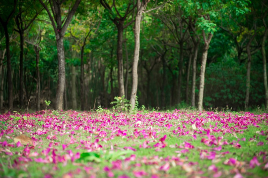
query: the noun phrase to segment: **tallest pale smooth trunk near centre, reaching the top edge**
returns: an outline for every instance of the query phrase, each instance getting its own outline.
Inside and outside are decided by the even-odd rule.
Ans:
[[[131,110],[135,107],[135,100],[137,94],[137,83],[138,83],[138,76],[137,76],[137,66],[138,66],[138,57],[139,57],[139,34],[140,34],[140,21],[142,12],[146,9],[148,0],[137,0],[137,14],[135,17],[135,24],[134,24],[134,39],[135,39],[135,47],[134,47],[134,59],[132,65],[132,89],[131,89]]]

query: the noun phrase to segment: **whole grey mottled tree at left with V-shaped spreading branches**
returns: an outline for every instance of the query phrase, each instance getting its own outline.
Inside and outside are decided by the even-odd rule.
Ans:
[[[67,27],[72,19],[72,16],[74,15],[81,0],[75,0],[74,3],[72,3],[73,1],[71,0],[67,1],[69,6],[71,6],[72,4],[73,5],[71,8],[68,8],[67,13],[65,14],[66,18],[62,18],[62,11],[64,9],[64,5],[67,2],[63,3],[64,1],[60,0],[47,0],[46,2],[44,2],[43,0],[39,1],[46,9],[49,15],[56,36],[57,50],[58,50],[58,69],[59,69],[58,87],[56,93],[56,109],[62,110],[64,89],[65,89],[65,54],[64,54],[63,39]],[[52,14],[48,8],[48,5],[51,8]]]

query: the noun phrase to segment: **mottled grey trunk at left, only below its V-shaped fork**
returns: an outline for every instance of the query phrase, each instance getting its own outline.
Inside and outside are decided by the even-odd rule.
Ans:
[[[59,78],[56,93],[56,109],[61,111],[63,109],[63,97],[65,88],[65,55],[63,37],[57,39],[58,50],[58,66],[59,66]]]

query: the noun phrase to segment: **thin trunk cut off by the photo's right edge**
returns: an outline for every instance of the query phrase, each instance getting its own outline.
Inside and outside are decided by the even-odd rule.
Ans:
[[[265,30],[262,41],[262,56],[263,56],[263,68],[264,68],[264,87],[265,87],[265,110],[268,111],[268,85],[267,85],[267,70],[266,70],[266,51],[265,51],[265,41],[267,38],[268,28]]]

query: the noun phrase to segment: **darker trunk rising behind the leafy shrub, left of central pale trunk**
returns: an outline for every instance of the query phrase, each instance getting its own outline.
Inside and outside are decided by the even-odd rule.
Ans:
[[[123,66],[123,22],[117,25],[118,36],[117,36],[117,61],[118,61],[118,85],[119,85],[119,96],[125,95],[124,89],[124,66]]]

